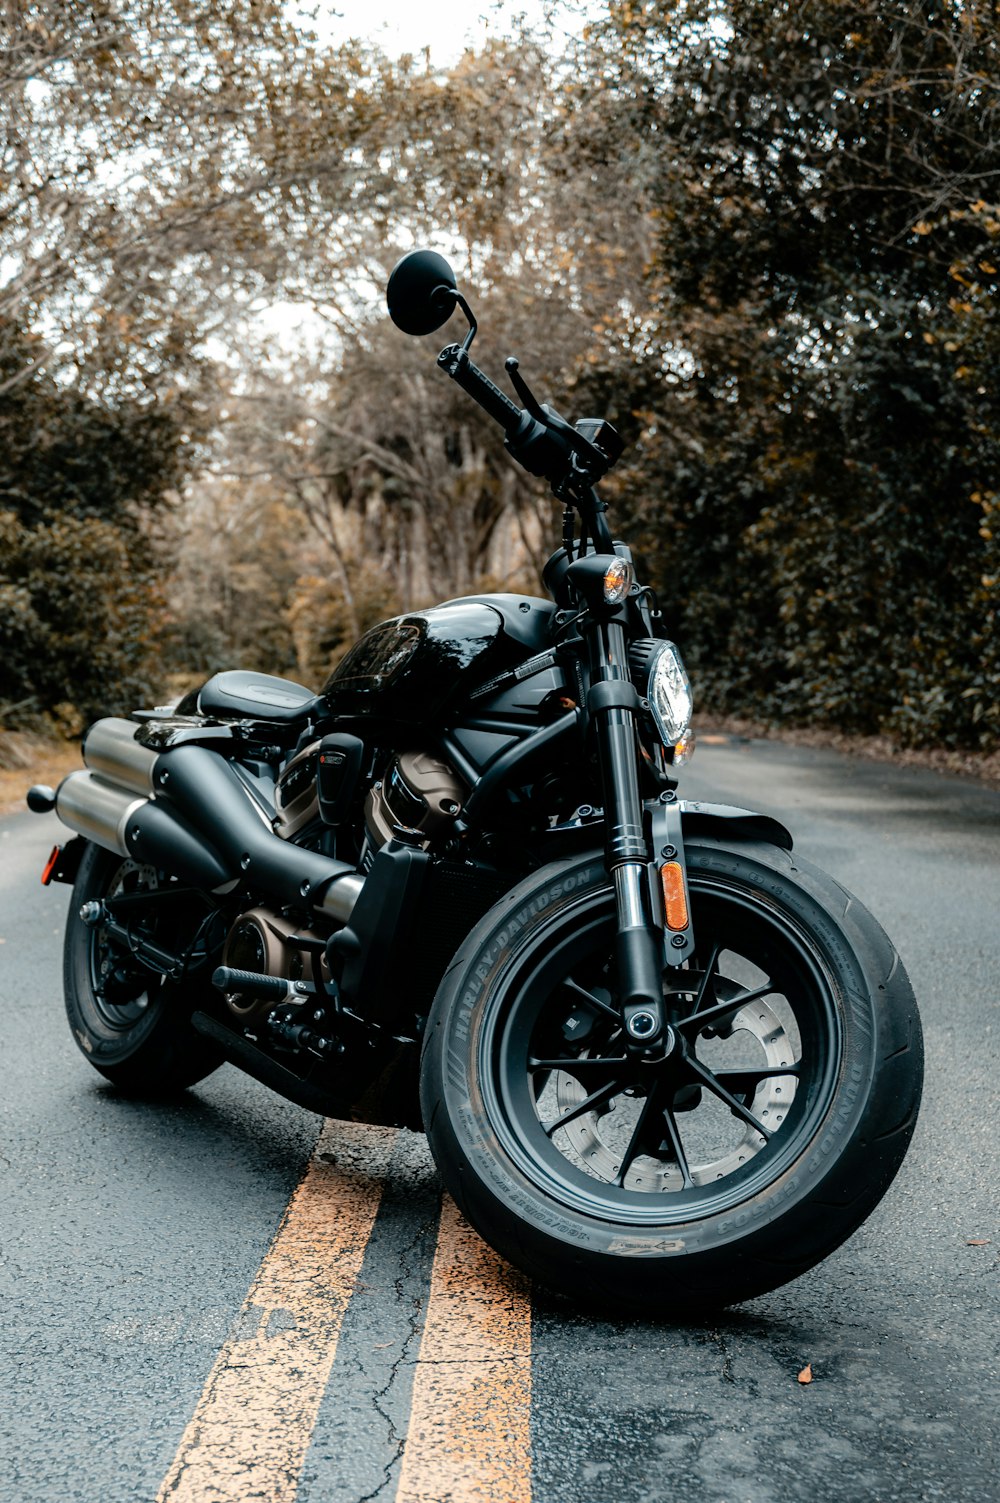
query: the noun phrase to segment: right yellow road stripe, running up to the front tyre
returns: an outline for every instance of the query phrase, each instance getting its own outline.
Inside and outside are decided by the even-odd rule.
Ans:
[[[531,1300],[445,1196],[395,1503],[480,1500],[531,1500]]]

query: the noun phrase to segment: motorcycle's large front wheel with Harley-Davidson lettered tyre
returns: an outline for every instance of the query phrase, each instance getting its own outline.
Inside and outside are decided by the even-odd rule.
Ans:
[[[624,1045],[600,855],[546,867],[469,935],[429,1019],[421,1103],[498,1252],[617,1311],[678,1315],[797,1278],[884,1195],[913,1135],[920,1022],[896,951],[776,846],[686,846],[696,953],[668,1048]]]

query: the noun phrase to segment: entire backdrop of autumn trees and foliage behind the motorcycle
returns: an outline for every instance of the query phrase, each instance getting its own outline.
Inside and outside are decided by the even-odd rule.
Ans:
[[[517,35],[444,71],[292,14],[6,18],[0,700],[96,705],[155,633],[171,669],[311,681],[394,595],[543,552],[555,508],[380,316],[420,237],[492,373],[621,424],[609,499],[702,703],[995,745],[995,8],[611,0],[561,63]],[[319,307],[322,355],[253,338],[262,298]],[[224,485],[165,517],[209,430]]]

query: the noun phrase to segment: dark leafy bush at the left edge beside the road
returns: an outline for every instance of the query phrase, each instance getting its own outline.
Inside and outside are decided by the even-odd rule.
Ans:
[[[18,358],[9,337],[6,353]],[[3,362],[0,361],[0,373]],[[0,395],[0,717],[131,708],[162,612],[143,514],[183,473],[165,404],[98,400],[41,370]]]

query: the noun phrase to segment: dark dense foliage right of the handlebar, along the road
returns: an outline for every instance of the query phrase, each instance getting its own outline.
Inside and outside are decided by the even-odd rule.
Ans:
[[[995,745],[992,9],[617,6],[606,41],[589,108],[645,147],[657,237],[585,385],[630,415],[623,502],[702,702]]]

